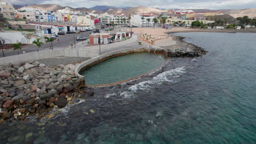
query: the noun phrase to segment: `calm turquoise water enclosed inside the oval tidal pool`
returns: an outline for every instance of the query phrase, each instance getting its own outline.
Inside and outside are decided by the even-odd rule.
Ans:
[[[86,85],[104,85],[146,74],[164,62],[162,55],[137,52],[107,59],[80,71],[80,74],[85,76]]]

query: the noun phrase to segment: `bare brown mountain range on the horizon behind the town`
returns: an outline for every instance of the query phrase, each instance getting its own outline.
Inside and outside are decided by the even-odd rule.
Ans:
[[[16,7],[15,7],[16,6]],[[15,9],[21,8],[21,5],[14,5]],[[31,4],[26,5],[24,7],[32,7],[36,9],[42,9],[42,10],[59,10],[59,9],[65,9],[66,7],[62,7],[58,4]],[[162,13],[166,12],[168,10],[179,10],[179,9],[158,9],[158,8],[149,8],[149,7],[113,7],[108,5],[97,5],[92,8],[72,8],[68,7],[73,11],[84,11],[87,13],[95,13],[95,14],[101,14],[101,13],[108,13],[108,14],[140,14],[140,13]],[[194,12],[206,12],[206,11],[224,11],[225,14],[229,14],[233,17],[243,17],[245,15],[249,17],[256,17],[256,8],[251,9],[190,9]]]

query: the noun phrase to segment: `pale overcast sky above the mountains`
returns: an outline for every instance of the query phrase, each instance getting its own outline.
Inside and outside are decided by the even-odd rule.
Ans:
[[[59,4],[73,8],[91,8],[95,5],[115,7],[145,6],[164,9],[248,9],[256,8],[256,0],[6,0],[11,4]]]

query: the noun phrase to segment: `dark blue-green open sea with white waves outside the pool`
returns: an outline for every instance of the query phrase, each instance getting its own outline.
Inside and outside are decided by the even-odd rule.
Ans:
[[[0,124],[0,143],[256,143],[256,33],[176,35],[208,53],[88,88],[54,118]]]

